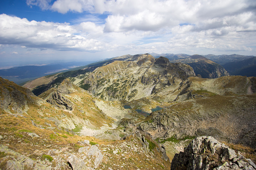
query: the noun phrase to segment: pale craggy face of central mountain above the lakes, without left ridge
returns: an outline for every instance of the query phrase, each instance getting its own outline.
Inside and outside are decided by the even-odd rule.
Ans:
[[[164,57],[154,59],[144,54],[97,68],[83,84],[90,85],[89,90],[102,99],[131,101],[177,86],[191,76],[195,73],[186,64],[173,64]]]

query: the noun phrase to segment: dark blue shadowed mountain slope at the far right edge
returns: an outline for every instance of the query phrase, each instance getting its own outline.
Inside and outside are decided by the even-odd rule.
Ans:
[[[231,75],[241,75],[247,77],[256,76],[256,57],[242,61],[226,63],[223,65],[223,67]]]

